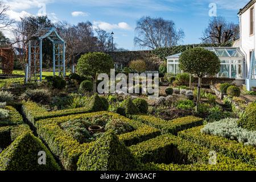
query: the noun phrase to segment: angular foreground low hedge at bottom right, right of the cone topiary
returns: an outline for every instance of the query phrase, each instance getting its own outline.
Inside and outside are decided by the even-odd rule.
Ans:
[[[176,163],[176,167],[181,170],[183,166],[197,166],[204,168],[209,166],[208,148],[199,146],[198,144],[188,142],[180,137],[171,134],[161,135],[159,137],[144,141],[134,146],[129,147],[131,152],[143,163]],[[178,166],[177,164],[182,164]],[[187,164],[187,165],[186,165]],[[162,164],[168,169],[174,164]],[[241,160],[232,159],[222,154],[217,153],[217,166],[213,169],[220,170],[255,170],[254,166],[243,163]],[[177,169],[179,169],[177,168]],[[210,167],[209,167],[210,168]],[[161,169],[161,168],[160,168]],[[164,169],[162,167],[162,169]],[[171,169],[171,168],[170,168]],[[169,170],[170,170],[169,169]]]

